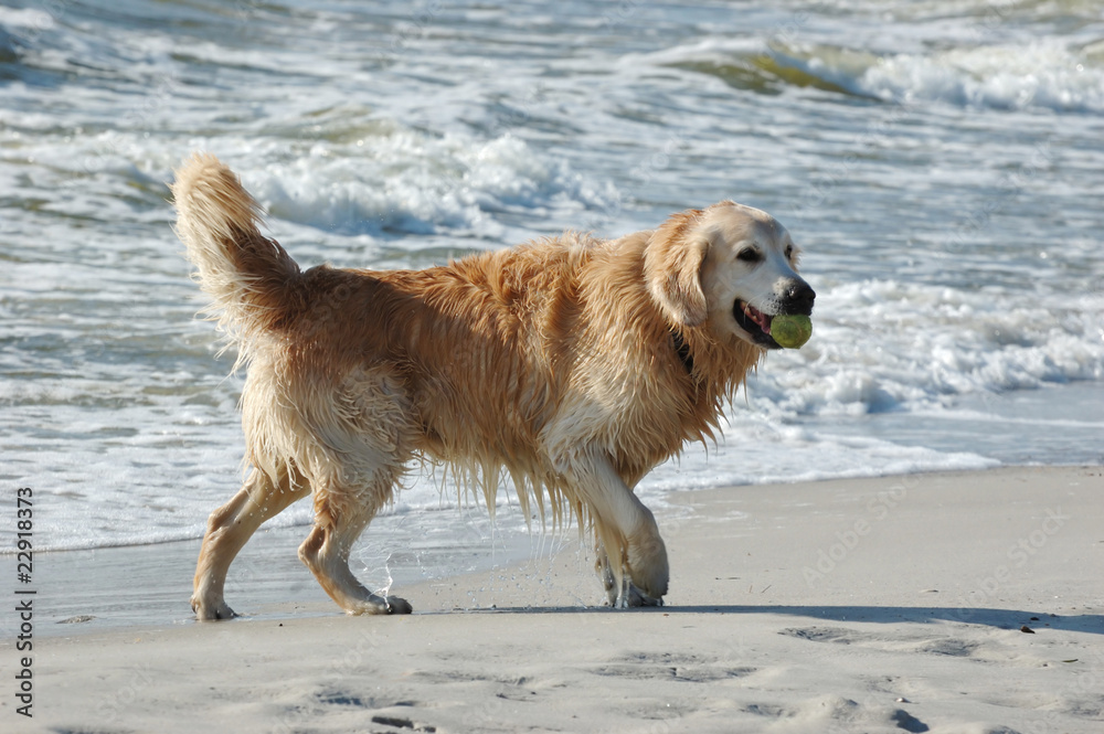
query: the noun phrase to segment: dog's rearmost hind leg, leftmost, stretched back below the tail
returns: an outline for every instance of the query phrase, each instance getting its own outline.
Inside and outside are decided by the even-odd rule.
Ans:
[[[267,474],[254,468],[237,494],[208,519],[192,592],[192,609],[197,619],[230,619],[236,616],[223,598],[230,564],[257,528],[310,493],[301,477],[297,477],[298,481],[293,485],[287,472],[282,470],[277,479],[274,482]]]

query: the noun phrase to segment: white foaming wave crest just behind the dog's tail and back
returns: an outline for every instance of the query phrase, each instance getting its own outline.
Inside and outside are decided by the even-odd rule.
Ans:
[[[433,136],[400,126],[243,163],[273,216],[337,234],[471,234],[500,238],[511,215],[611,209],[618,194],[524,141]]]

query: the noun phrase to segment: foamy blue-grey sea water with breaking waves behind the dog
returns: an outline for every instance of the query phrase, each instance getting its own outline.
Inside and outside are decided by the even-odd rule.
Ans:
[[[166,185],[195,150],[305,267],[775,214],[814,337],[649,503],[1104,460],[1096,2],[6,3],[0,486],[33,488],[40,549],[195,539],[240,485],[242,375],[194,316]],[[380,577],[395,547],[524,528],[509,491],[492,531],[439,474],[405,486],[359,555]]]

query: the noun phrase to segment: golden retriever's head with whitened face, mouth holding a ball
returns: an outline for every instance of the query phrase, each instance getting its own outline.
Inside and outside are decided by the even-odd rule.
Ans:
[[[675,323],[709,323],[765,349],[778,349],[771,320],[809,316],[816,294],[797,275],[798,249],[777,220],[731,201],[676,214],[645,253],[648,289]]]

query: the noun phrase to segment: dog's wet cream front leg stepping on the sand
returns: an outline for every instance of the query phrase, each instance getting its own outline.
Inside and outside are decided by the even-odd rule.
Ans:
[[[667,594],[667,547],[651,510],[604,454],[578,457],[566,472],[594,522],[597,570],[615,607],[656,606]]]

